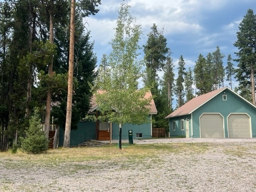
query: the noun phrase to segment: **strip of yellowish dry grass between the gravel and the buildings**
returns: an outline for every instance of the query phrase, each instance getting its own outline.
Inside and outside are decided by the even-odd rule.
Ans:
[[[77,148],[58,148],[56,150],[48,150],[42,154],[25,154],[18,150],[16,154],[10,151],[0,153],[0,164],[5,168],[22,168],[26,166],[58,166],[62,163],[80,163],[97,160],[128,160],[130,162],[138,162],[144,159],[157,159],[159,154],[196,154],[205,153],[210,149],[218,150],[224,144],[210,143],[172,143],[172,144],[147,144],[147,145],[130,145],[123,146],[122,150],[117,146],[106,144],[98,148],[77,147]],[[250,155],[252,148],[246,148],[240,145],[227,145],[223,151],[231,156]]]

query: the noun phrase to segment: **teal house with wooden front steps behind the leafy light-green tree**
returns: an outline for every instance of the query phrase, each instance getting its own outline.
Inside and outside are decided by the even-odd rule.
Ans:
[[[147,92],[145,98],[152,98],[151,92]],[[98,116],[100,112],[97,110],[98,105],[95,102],[95,97],[91,99],[91,108],[88,114]],[[128,131],[132,130],[133,139],[141,138],[152,138],[152,115],[157,114],[156,105],[152,99],[150,106],[148,106],[150,112],[148,114],[149,121],[147,123],[137,125],[137,124],[124,124],[122,126],[122,139],[128,139]],[[119,125],[109,122],[101,122],[97,120],[96,122],[81,121],[78,123],[78,128],[76,130],[71,130],[70,132],[70,146],[77,146],[82,144],[84,141],[88,140],[118,140],[119,138]],[[64,130],[60,129],[59,143],[63,144],[64,141]]]

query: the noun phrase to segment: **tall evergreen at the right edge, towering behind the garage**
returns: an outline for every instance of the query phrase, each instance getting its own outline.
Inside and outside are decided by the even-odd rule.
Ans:
[[[238,28],[237,40],[234,43],[234,46],[238,48],[238,52],[235,52],[238,57],[235,60],[238,62],[236,70],[238,89],[241,91],[240,95],[246,98],[248,91],[243,90],[249,88],[252,104],[255,105],[256,15],[252,9],[247,10]]]

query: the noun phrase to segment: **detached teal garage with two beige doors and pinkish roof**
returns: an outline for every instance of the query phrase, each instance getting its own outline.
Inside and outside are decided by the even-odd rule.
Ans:
[[[256,106],[228,87],[197,96],[166,118],[171,136],[256,138]]]

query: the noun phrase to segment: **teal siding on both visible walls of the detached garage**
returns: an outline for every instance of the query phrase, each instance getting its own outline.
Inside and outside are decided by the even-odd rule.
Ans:
[[[227,100],[223,100],[223,95],[227,96]],[[179,122],[181,119],[188,118],[190,120],[190,137],[200,138],[200,116],[204,113],[219,113],[224,117],[225,138],[228,138],[228,116],[232,113],[246,113],[251,117],[252,137],[256,138],[256,108],[228,89],[192,112],[191,117],[187,115],[170,118],[170,135],[186,135],[186,132],[180,130]],[[172,131],[172,121],[175,121],[178,127],[175,131]]]

